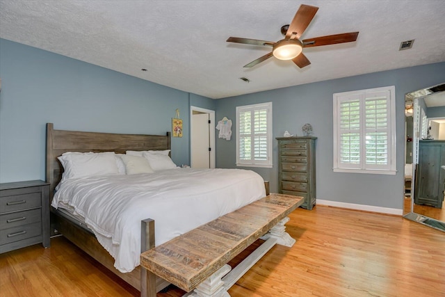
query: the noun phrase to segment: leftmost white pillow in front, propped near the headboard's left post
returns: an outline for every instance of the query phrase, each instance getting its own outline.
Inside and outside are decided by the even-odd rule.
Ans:
[[[113,175],[119,172],[114,152],[65,152],[58,159],[64,169],[62,179]]]

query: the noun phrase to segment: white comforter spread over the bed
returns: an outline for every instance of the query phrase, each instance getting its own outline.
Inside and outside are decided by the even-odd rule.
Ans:
[[[250,170],[176,168],[68,179],[51,205],[82,216],[125,273],[139,265],[141,220],[154,219],[157,246],[264,195]]]

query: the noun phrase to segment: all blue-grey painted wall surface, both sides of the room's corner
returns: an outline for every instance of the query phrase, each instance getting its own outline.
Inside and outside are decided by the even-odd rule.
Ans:
[[[184,136],[172,138],[172,159],[180,165],[190,162],[191,105],[215,110],[216,119],[234,120],[236,106],[271,101],[274,138],[285,130],[302,135],[306,122],[314,127],[318,199],[402,209],[405,93],[443,83],[445,63],[212,100],[0,39],[0,78],[0,182],[44,179],[47,122],[55,129],[164,134],[179,109]],[[332,172],[332,94],[393,85],[397,175]],[[235,136],[216,139],[217,167],[236,167],[235,143]],[[276,141],[273,164],[271,169],[252,169],[277,191]]]

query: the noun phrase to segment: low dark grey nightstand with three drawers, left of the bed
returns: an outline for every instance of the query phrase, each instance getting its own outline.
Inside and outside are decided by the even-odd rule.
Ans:
[[[49,184],[0,184],[0,253],[35,243],[49,247]]]

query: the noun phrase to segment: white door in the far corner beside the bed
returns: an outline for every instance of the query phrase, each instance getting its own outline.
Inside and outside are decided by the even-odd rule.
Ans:
[[[193,114],[192,126],[192,168],[210,168],[209,113]]]

